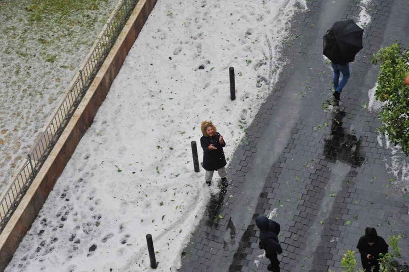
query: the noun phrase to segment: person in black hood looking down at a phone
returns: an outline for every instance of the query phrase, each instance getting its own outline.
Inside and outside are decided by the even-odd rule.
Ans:
[[[361,253],[362,268],[365,272],[379,271],[379,254],[387,254],[389,245],[384,238],[378,236],[376,229],[367,227],[365,235],[362,236],[357,245],[357,249]]]

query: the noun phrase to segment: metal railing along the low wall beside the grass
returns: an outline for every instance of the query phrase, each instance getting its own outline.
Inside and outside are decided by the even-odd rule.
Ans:
[[[117,9],[101,31],[100,38],[95,41],[89,58],[76,74],[76,79],[73,80],[44,132],[27,154],[27,160],[22,164],[22,168],[11,181],[0,201],[0,233],[74,114],[137,2],[138,0],[121,0],[117,4]]]

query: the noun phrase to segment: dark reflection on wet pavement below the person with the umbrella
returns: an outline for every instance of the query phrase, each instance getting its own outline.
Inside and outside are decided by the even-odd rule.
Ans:
[[[331,138],[324,140],[324,155],[329,162],[336,160],[361,166],[365,160],[361,151],[362,137],[357,139],[355,135],[347,134],[342,127],[342,119],[345,112],[337,110],[331,125]]]

